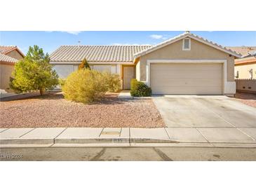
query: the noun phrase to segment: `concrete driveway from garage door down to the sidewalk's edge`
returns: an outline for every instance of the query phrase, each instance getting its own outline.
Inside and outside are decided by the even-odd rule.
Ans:
[[[169,128],[256,128],[256,108],[226,96],[153,97]]]

